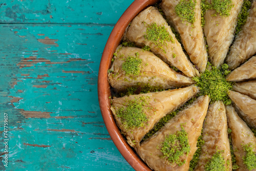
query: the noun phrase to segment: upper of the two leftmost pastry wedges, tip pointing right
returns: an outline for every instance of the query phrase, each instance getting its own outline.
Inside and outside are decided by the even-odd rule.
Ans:
[[[114,59],[109,81],[118,91],[138,84],[141,87],[148,84],[151,87],[171,89],[194,83],[192,79],[170,69],[152,52],[140,48],[118,47]]]

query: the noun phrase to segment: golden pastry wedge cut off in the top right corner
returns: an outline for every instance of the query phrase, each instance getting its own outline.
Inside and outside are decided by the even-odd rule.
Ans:
[[[236,69],[256,53],[256,0],[252,1],[249,16],[242,30],[238,33],[227,56],[229,69]]]

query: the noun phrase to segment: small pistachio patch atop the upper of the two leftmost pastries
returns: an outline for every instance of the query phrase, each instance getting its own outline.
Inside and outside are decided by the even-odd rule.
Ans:
[[[122,63],[122,70],[126,75],[139,75],[141,71],[142,59],[139,58],[139,54],[134,56],[128,56]]]

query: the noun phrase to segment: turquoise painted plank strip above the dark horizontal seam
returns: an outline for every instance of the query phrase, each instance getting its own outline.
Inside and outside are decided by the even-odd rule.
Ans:
[[[1,23],[115,24],[133,1],[66,0],[1,1]]]

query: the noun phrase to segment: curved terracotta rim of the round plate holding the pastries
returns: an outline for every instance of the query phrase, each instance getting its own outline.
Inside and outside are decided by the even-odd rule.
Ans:
[[[121,38],[126,27],[132,22],[133,18],[139,12],[158,2],[159,0],[136,0],[129,8],[122,14],[116,23],[113,31],[110,34],[106,46],[104,48],[98,76],[98,98],[100,111],[106,125],[106,129],[118,148],[122,156],[135,170],[151,170],[133,151],[132,147],[125,141],[116,124],[115,118],[110,110],[110,85],[108,82],[108,70],[110,69],[111,59],[117,46],[120,44]]]

